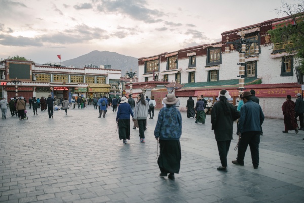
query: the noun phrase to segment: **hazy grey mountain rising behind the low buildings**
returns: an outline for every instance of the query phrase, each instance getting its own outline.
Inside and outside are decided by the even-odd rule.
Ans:
[[[125,74],[126,70],[130,72],[131,68],[132,72],[138,72],[138,58],[108,51],[101,52],[95,50],[74,59],[61,61],[61,63],[66,66],[72,65],[77,68],[83,68],[88,64],[93,64],[99,67],[100,65],[111,65],[111,69],[122,70],[122,76]]]

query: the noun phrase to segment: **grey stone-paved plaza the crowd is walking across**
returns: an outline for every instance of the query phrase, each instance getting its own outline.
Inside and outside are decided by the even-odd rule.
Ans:
[[[220,166],[210,116],[195,124],[182,112],[181,170],[172,181],[159,177],[153,132],[159,110],[148,119],[146,143],[131,129],[124,145],[116,131],[116,113],[98,118],[93,106],[47,112],[19,121],[0,120],[0,202],[304,202],[304,132],[282,133],[284,121],[266,119],[260,165]],[[236,123],[234,132],[236,132]]]

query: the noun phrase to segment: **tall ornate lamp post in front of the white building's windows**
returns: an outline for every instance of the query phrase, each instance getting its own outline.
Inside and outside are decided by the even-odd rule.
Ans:
[[[248,49],[251,47],[252,43],[257,43],[258,41],[256,40],[246,40],[245,39],[245,33],[243,31],[240,32],[240,36],[241,38],[238,40],[235,40],[233,42],[229,42],[228,39],[229,37],[227,37],[227,45],[228,44],[232,44],[233,47],[239,52],[239,95],[241,95],[245,89],[245,53],[246,51],[248,51]],[[225,53],[229,54],[229,46],[226,47],[225,49]],[[258,54],[259,53],[259,46],[255,46],[255,53]]]

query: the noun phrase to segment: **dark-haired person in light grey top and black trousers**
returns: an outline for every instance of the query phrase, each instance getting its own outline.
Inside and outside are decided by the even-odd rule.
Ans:
[[[147,117],[148,117],[149,103],[144,99],[144,95],[139,95],[138,103],[134,110],[134,119],[133,121],[138,121],[139,137],[140,142],[145,143],[144,131],[146,129]]]

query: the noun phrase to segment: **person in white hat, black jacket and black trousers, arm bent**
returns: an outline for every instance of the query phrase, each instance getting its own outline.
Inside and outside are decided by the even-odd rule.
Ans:
[[[213,106],[211,112],[211,130],[214,130],[221,161],[221,166],[217,170],[227,171],[227,155],[232,140],[233,121],[238,119],[241,114],[227,101],[231,98],[227,90],[221,90],[218,98],[219,102]]]

